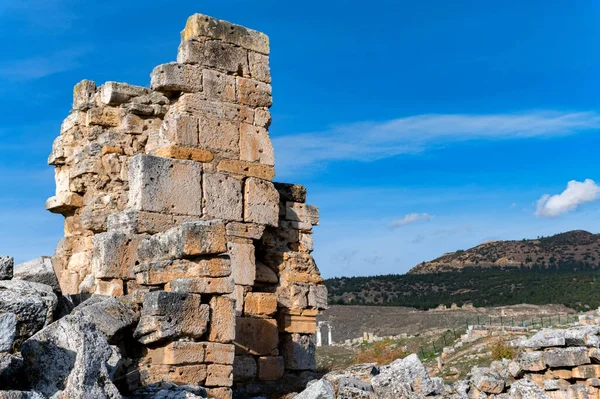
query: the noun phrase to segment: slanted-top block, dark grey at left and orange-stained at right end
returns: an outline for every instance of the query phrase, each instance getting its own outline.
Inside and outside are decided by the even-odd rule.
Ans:
[[[225,226],[218,220],[183,223],[143,240],[141,261],[171,260],[226,252]]]

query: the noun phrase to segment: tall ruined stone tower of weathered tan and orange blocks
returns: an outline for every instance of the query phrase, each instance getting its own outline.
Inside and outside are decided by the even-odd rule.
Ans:
[[[150,88],[75,86],[49,158],[46,208],[65,218],[52,263],[63,294],[136,309],[129,390],[250,397],[316,368],[318,209],[304,187],[272,182],[270,83],[266,35],[196,14]]]

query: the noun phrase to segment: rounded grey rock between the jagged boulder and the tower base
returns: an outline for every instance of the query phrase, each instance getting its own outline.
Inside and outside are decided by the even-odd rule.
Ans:
[[[98,331],[111,344],[117,344],[138,322],[135,312],[117,298],[99,295],[78,305],[72,314],[81,314],[93,320]]]

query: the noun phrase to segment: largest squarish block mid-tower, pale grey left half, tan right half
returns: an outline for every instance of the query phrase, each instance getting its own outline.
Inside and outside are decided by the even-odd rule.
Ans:
[[[202,166],[193,161],[138,154],[129,165],[129,208],[202,215]]]

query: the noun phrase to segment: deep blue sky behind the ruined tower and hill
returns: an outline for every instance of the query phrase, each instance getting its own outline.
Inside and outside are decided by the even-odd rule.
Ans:
[[[75,83],[148,85],[195,12],[271,38],[276,180],[320,207],[326,277],[600,232],[597,2],[3,0],[0,253],[62,236],[46,159]]]

